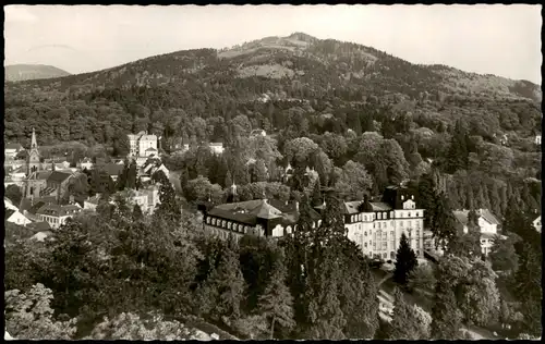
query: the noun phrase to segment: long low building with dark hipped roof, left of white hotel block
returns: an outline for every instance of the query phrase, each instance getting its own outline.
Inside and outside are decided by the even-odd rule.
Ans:
[[[312,212],[315,225],[319,225],[319,213]],[[213,235],[227,238],[229,234],[239,239],[246,233],[257,236],[280,237],[291,234],[299,219],[299,204],[276,199],[255,199],[219,205],[204,214],[204,228]]]

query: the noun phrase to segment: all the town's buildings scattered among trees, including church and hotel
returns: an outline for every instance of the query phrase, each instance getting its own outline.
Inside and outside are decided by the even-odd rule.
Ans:
[[[256,130],[252,135],[266,136],[265,131]],[[80,176],[90,175],[89,171],[99,169],[99,183],[108,185],[116,183],[123,173],[126,161],[135,163],[138,187],[118,191],[116,195],[125,198],[131,205],[138,205],[145,214],[153,214],[160,202],[158,185],[152,181],[157,172],[162,172],[168,179],[170,172],[162,163],[158,153],[158,137],[141,132],[128,135],[130,153],[126,159],[112,160],[108,163],[93,163],[89,158],[82,159],[76,167],[62,159],[41,159],[38,138],[33,130],[31,147],[25,149],[19,144],[7,144],[4,149],[4,186],[16,185],[22,191],[20,204],[4,197],[5,221],[27,228],[36,232],[37,239],[44,239],[52,231],[65,223],[66,219],[82,211],[96,211],[100,194],[75,200],[73,195],[64,197],[70,185]],[[180,145],[181,146],[181,145]],[[189,145],[181,147],[182,151]],[[222,144],[210,144],[213,153],[221,155]],[[26,152],[26,159],[17,159]],[[286,176],[292,173],[291,167],[286,169]],[[90,180],[90,177],[89,177]],[[89,181],[90,183],[90,181]],[[282,202],[277,199],[256,199],[235,201],[237,185],[231,186],[231,202],[210,207],[202,204],[203,228],[208,232],[227,238],[230,234],[237,238],[252,233],[257,236],[280,237],[291,234],[296,226],[298,202]],[[356,243],[363,255],[378,259],[387,265],[396,260],[396,250],[400,237],[405,233],[411,247],[419,259],[436,260],[443,250],[434,242],[432,232],[424,228],[423,219],[426,209],[417,207],[414,195],[408,194],[402,186],[388,187],[377,201],[367,198],[359,201],[344,202],[344,224],[348,237]],[[315,225],[320,223],[320,211],[325,204],[313,210]],[[468,214],[470,210],[453,210],[458,225],[468,233]],[[477,209],[481,231],[481,249],[485,257],[489,254],[494,238],[499,234],[501,222],[489,209]],[[541,233],[541,216],[533,225]],[[504,237],[505,236],[501,236]]]

